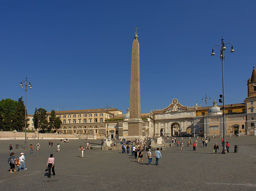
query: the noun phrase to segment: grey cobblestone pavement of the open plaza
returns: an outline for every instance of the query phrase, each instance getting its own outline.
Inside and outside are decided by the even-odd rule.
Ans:
[[[196,138],[193,138],[195,141]],[[256,189],[256,137],[227,137],[230,143],[229,154],[221,154],[221,138],[210,138],[208,147],[203,147],[201,138],[196,151],[184,142],[184,150],[177,146],[163,150],[159,165],[147,165],[146,152],[143,163],[130,154],[121,154],[121,150],[86,150],[80,158],[79,146],[85,146],[86,140],[72,139],[68,143],[52,140],[40,140],[40,151],[36,151],[36,140],[28,140],[34,145],[34,154],[15,144],[24,146],[24,140],[1,141],[1,190],[255,190]],[[90,141],[90,140],[89,140]],[[167,139],[171,142],[171,139]],[[60,152],[56,145],[60,143]],[[218,143],[220,150],[213,154],[213,146]],[[26,171],[10,173],[7,163],[9,144],[14,146],[15,157],[20,152],[26,156]],[[100,145],[93,140],[92,145]],[[234,153],[234,145],[238,152]],[[154,152],[154,151],[153,151]],[[56,176],[47,178],[47,158],[55,158]]]

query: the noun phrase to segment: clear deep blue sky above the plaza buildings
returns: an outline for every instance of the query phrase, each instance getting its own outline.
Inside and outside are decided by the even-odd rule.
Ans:
[[[256,63],[255,1],[1,1],[0,99],[23,96],[27,110],[129,106],[131,48],[138,26],[141,111],[167,107],[176,98],[200,105],[222,93],[243,103]],[[208,102],[208,105],[212,103]]]

